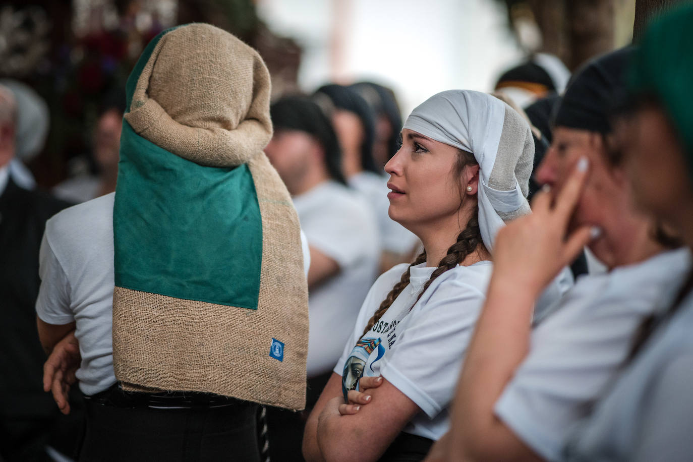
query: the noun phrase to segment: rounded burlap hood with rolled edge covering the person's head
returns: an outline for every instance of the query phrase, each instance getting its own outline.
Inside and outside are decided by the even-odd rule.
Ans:
[[[138,64],[125,120],[144,139],[211,167],[247,163],[270,141],[270,74],[240,39],[188,24],[162,35]]]

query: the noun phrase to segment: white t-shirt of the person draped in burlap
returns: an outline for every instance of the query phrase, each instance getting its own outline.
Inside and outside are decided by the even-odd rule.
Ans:
[[[110,193],[66,208],[46,222],[36,301],[38,317],[49,324],[75,321],[82,364],[77,371],[86,395],[116,382],[113,371],[113,202]],[[304,267],[308,242],[301,233]]]

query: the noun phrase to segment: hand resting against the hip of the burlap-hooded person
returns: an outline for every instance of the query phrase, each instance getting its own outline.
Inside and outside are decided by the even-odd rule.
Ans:
[[[75,373],[80,362],[80,345],[73,330],[55,344],[44,364],[44,391],[53,392],[53,399],[62,414],[70,414],[68,395],[70,386],[77,381]]]

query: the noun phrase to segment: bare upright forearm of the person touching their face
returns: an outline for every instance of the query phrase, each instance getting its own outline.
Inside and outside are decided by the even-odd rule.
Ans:
[[[493,407],[527,355],[535,299],[534,291],[509,278],[492,279],[453,405],[451,459],[516,460],[524,454]]]

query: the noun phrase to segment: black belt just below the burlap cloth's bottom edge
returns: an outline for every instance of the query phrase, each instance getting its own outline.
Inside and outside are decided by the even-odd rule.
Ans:
[[[85,395],[89,403],[108,407],[152,409],[211,409],[229,406],[252,406],[253,403],[228,396],[199,391],[162,391],[160,393],[141,393],[125,391],[119,383],[94,395]]]

